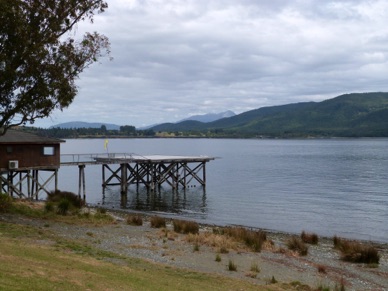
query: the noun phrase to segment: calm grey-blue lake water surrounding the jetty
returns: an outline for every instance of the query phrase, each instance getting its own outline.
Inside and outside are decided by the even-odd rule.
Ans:
[[[61,152],[102,153],[104,140],[77,139]],[[111,139],[111,153],[208,155],[207,187],[156,194],[131,186],[102,193],[101,166],[86,167],[91,204],[214,224],[388,242],[388,139]],[[59,188],[78,192],[78,168],[62,167]]]

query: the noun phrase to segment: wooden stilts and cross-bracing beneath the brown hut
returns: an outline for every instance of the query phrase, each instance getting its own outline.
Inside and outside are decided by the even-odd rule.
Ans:
[[[39,171],[51,173],[41,182],[39,181]],[[53,179],[56,190],[58,188],[58,169],[9,170],[0,173],[0,190],[12,197],[38,200],[41,191],[50,192],[47,186]]]

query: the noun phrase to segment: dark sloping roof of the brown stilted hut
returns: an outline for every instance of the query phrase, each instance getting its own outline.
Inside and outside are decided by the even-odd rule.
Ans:
[[[38,136],[22,130],[8,130],[0,136],[0,144],[57,144],[65,142],[62,139]]]

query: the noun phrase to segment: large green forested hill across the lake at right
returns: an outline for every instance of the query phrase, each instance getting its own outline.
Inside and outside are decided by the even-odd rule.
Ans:
[[[388,93],[345,94],[322,102],[263,107],[209,123],[165,123],[152,130],[229,137],[388,137]]]

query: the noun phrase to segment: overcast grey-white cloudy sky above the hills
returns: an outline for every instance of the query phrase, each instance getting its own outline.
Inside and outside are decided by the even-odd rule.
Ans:
[[[68,121],[145,125],[388,91],[388,1],[108,0],[77,32],[109,37]]]

